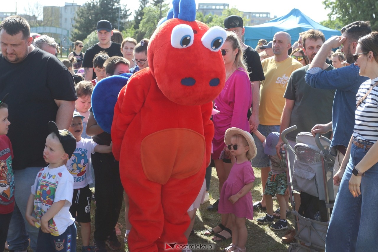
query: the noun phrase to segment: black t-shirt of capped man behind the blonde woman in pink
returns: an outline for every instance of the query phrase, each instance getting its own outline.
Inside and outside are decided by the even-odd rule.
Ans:
[[[259,53],[257,53],[256,50],[254,50],[252,47],[248,46],[244,52],[244,61],[247,64],[248,72],[251,72],[249,74],[249,80],[250,81],[263,81],[265,79],[264,71],[262,70],[261,61]],[[253,100],[252,105],[253,106]],[[251,110],[248,109],[247,111],[247,117],[251,117],[252,113]]]

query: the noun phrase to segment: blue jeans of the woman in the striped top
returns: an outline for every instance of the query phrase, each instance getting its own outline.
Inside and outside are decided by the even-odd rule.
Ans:
[[[342,177],[328,226],[325,243],[327,252],[377,250],[375,238],[378,237],[378,219],[374,213],[378,209],[378,163],[362,177],[360,196],[353,198],[349,191],[353,167],[366,153],[367,149],[352,144],[349,163]]]

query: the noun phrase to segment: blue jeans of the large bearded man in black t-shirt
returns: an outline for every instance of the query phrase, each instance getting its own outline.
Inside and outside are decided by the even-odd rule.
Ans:
[[[30,247],[36,251],[38,229],[25,219],[26,205],[31,193],[31,186],[37,177],[37,173],[41,167],[29,167],[23,170],[13,170],[14,173],[14,198],[15,207],[9,224],[8,236],[6,241],[10,250],[23,251],[29,246],[28,238],[30,238]]]

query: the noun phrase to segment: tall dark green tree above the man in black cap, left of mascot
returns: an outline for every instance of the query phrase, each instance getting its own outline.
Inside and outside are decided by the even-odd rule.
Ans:
[[[121,5],[120,0],[89,0],[77,10],[72,41],[84,40],[88,33],[96,30],[99,20],[105,19],[112,23],[113,28],[123,30],[124,22],[130,16],[129,9]]]

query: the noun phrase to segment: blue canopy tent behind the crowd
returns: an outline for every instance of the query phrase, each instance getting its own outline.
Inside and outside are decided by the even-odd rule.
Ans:
[[[289,14],[277,17],[261,25],[245,26],[245,44],[255,48],[259,39],[273,40],[278,31],[285,31],[291,36],[291,44],[298,40],[299,33],[308,29],[321,30],[328,39],[335,35],[341,35],[340,31],[327,28],[307,17],[299,9],[292,9]]]

